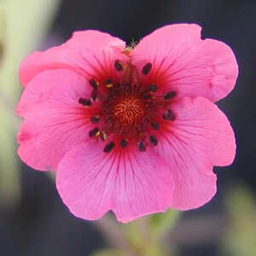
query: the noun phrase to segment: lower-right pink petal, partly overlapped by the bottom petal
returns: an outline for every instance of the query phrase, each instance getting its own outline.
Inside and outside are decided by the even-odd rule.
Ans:
[[[168,162],[175,188],[172,208],[187,210],[204,205],[216,193],[212,166],[227,166],[236,154],[230,122],[205,98],[173,103],[176,119],[159,137],[158,153]]]

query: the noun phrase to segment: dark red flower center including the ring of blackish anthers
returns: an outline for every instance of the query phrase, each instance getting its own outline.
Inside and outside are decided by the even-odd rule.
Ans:
[[[93,102],[97,106],[97,113],[90,118],[96,127],[89,131],[89,137],[100,137],[106,142],[103,150],[106,153],[118,145],[126,148],[130,143],[137,143],[140,151],[145,151],[148,144],[156,146],[160,120],[175,119],[168,106],[176,92],[167,91],[159,96],[157,84],[140,84],[136,67],[129,63],[122,66],[119,61],[115,61],[113,67],[122,73],[119,81],[113,83],[107,79],[102,83],[90,79],[91,99],[79,98],[79,103],[88,108],[93,108]],[[146,76],[151,69],[152,64],[147,63],[141,72]]]

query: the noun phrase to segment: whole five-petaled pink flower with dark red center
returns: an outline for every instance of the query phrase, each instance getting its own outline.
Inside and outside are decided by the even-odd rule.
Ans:
[[[201,207],[216,193],[212,166],[236,154],[234,133],[214,102],[238,68],[201,27],[164,26],[134,49],[97,31],[35,52],[20,66],[18,154],[57,170],[56,187],[79,218],[112,210],[119,221]]]

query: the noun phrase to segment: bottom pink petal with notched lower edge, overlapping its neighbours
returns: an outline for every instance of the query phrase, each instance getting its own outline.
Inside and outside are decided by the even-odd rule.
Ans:
[[[121,222],[164,212],[173,183],[164,160],[152,149],[132,146],[103,153],[102,142],[88,141],[61,160],[56,186],[69,210],[79,218],[101,218],[113,210]]]

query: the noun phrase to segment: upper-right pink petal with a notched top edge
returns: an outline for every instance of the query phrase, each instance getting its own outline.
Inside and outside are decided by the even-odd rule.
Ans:
[[[140,71],[148,62],[148,75]],[[176,24],[157,29],[132,51],[144,84],[158,84],[160,91],[177,96],[204,96],[212,102],[226,96],[236,84],[238,67],[230,47],[213,39],[201,39],[201,27]]]

